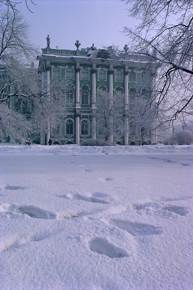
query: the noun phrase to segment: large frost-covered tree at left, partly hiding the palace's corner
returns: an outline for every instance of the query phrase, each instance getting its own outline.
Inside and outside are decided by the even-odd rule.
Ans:
[[[41,71],[33,60],[39,54],[31,44],[30,25],[17,11],[0,14],[0,140],[27,142],[48,124],[57,126],[58,115],[69,106],[64,95],[68,82],[53,79],[42,86]],[[48,119],[49,122],[47,121]],[[22,125],[23,124],[23,125]],[[45,124],[47,124],[45,126]],[[46,130],[46,129],[45,129]]]

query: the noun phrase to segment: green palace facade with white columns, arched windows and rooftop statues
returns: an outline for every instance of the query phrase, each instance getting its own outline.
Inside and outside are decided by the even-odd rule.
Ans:
[[[99,130],[97,114],[97,91],[106,90],[114,95],[119,90],[124,95],[124,109],[114,111],[119,122],[123,123],[124,133],[109,136],[110,141],[119,145],[140,145],[142,143],[140,128],[132,122],[133,111],[129,101],[137,91],[145,89],[142,70],[150,61],[143,55],[129,55],[129,58],[118,60],[111,47],[96,49],[94,44],[79,49],[76,41],[75,50],[50,48],[50,38],[47,37],[47,47],[42,48],[42,56],[38,57],[39,65],[44,68],[42,80],[47,88],[51,79],[57,78],[71,81],[71,88],[66,91],[73,106],[66,108],[60,125],[56,130],[50,127],[47,140],[52,144],[80,144],[84,139],[96,139],[104,136]],[[127,47],[126,47],[127,49]],[[155,77],[150,86],[155,87]],[[42,88],[45,86],[42,81]],[[113,121],[112,121],[113,122]],[[157,142],[156,131],[151,128],[146,134],[144,144]],[[40,133],[40,144],[45,144],[45,135]]]

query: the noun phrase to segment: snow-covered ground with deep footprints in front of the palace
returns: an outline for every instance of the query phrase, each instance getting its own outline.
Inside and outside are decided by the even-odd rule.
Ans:
[[[0,144],[0,289],[192,290],[192,151]]]

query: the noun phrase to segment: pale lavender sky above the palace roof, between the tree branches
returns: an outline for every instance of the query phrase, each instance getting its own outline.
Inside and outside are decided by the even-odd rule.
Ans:
[[[137,24],[127,16],[125,2],[119,0],[28,0],[17,4],[17,9],[31,23],[31,39],[34,44],[44,48],[46,37],[50,36],[50,47],[75,50],[79,40],[81,48],[94,46],[101,48],[115,44],[122,49],[127,37],[121,32],[123,26]]]

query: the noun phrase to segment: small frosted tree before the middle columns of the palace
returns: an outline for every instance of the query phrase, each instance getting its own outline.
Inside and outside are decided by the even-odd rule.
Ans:
[[[105,141],[112,141],[114,137],[124,134],[122,116],[124,109],[124,95],[116,91],[112,96],[107,90],[100,88],[97,90],[97,127],[98,135],[104,136]]]

